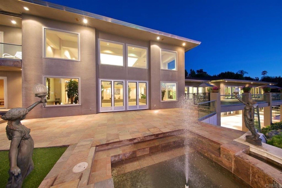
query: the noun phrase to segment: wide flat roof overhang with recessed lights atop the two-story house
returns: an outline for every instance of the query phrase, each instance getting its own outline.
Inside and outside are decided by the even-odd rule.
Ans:
[[[185,52],[201,44],[201,42],[199,41],[185,37],[180,37],[143,26],[138,26],[136,24],[131,24],[117,19],[93,14],[91,12],[85,12],[75,8],[49,3],[47,1],[0,0],[0,4],[2,11],[15,14],[30,14],[68,23],[90,26],[102,32],[113,33],[134,39],[144,41],[158,41],[176,46],[182,46],[182,43],[185,42]],[[29,10],[24,10],[24,6],[28,7]],[[83,23],[84,18],[87,19],[87,24]],[[76,19],[78,19],[79,21],[77,21]],[[2,19],[0,19],[0,24],[4,25],[5,22],[2,22],[1,20]],[[157,40],[158,36],[160,37],[160,40]]]

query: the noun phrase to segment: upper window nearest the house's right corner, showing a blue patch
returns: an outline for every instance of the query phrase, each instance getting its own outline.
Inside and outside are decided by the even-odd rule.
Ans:
[[[161,50],[160,64],[161,69],[177,70],[177,53],[168,50]]]

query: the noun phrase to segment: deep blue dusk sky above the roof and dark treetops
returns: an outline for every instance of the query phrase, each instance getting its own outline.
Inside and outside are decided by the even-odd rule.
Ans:
[[[282,76],[281,0],[47,1],[201,41],[185,53],[187,70]]]

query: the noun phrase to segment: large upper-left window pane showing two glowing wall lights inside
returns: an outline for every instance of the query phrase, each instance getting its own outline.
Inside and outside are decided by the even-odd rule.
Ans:
[[[79,60],[79,34],[44,28],[45,56]]]

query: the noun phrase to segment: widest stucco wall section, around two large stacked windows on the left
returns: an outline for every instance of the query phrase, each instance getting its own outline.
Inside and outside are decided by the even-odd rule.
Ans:
[[[81,61],[42,58],[43,26],[80,33]],[[22,38],[24,46],[22,59],[23,107],[27,107],[39,99],[34,97],[32,88],[36,83],[45,84],[44,75],[80,77],[81,87],[81,105],[58,105],[46,108],[38,105],[28,114],[27,118],[96,113],[95,29],[23,14]]]

